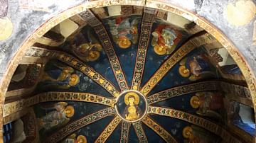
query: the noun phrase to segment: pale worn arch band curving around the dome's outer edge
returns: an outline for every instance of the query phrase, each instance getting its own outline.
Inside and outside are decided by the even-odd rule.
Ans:
[[[215,27],[215,25],[208,22],[205,18],[198,16],[196,13],[193,13],[191,11],[188,11],[184,8],[174,6],[172,4],[168,4],[167,2],[163,1],[149,1],[146,2],[146,4],[143,1],[122,1],[122,0],[96,0],[96,1],[90,1],[86,2],[84,4],[80,4],[78,6],[74,6],[73,8],[69,8],[61,13],[58,13],[56,16],[50,18],[46,23],[43,23],[40,28],[36,29],[36,31],[30,35],[21,45],[21,47],[18,48],[16,51],[16,54],[12,58],[11,62],[9,62],[9,65],[5,71],[3,76],[3,79],[0,81],[0,101],[1,103],[4,103],[5,99],[5,93],[7,91],[7,88],[9,86],[9,82],[11,81],[11,77],[14,74],[14,71],[16,70],[16,67],[18,66],[19,62],[21,61],[22,57],[25,55],[26,50],[30,48],[38,38],[41,38],[48,30],[53,28],[55,25],[60,23],[61,21],[64,21],[67,18],[70,18],[71,16],[74,16],[75,14],[81,13],[82,11],[86,11],[87,8],[97,8],[97,7],[103,7],[103,6],[114,6],[114,5],[134,5],[134,6],[146,6],[151,8],[157,8],[164,11],[169,11],[171,13],[175,13],[179,16],[182,16],[184,18],[188,18],[191,21],[194,21],[197,23],[201,28],[205,29],[208,33],[213,35],[222,45],[225,47],[226,50],[228,50],[229,54],[235,62],[238,64],[238,67],[240,67],[240,70],[242,71],[242,74],[245,76],[245,81],[247,83],[248,88],[250,89],[250,93],[252,96],[252,103],[254,110],[256,111],[256,81],[255,81],[255,75],[253,74],[252,69],[250,68],[250,65],[245,61],[245,58],[242,56],[242,54],[239,52],[238,48],[233,45],[233,42],[228,40],[228,38],[220,31],[218,28]],[[0,108],[0,118],[3,119],[3,108],[4,105],[1,105]],[[3,122],[0,124],[0,130],[2,130]],[[2,139],[2,134],[0,134],[0,137]],[[1,142],[1,140],[0,140]]]

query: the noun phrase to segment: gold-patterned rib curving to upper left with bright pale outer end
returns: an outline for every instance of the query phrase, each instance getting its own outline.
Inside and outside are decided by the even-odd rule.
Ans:
[[[70,67],[78,69],[79,71],[84,73],[86,76],[90,77],[90,79],[95,81],[97,84],[105,88],[105,90],[107,90],[110,94],[112,94],[112,96],[114,97],[119,96],[119,91],[117,91],[117,88],[115,88],[110,81],[105,79],[101,74],[97,73],[97,71],[95,71],[95,69],[93,69],[92,67],[87,66],[86,64],[81,62],[79,59],[71,55],[68,55],[65,52],[46,50],[39,47],[31,47],[28,50],[28,52],[26,52],[26,56],[56,58],[61,62],[68,64]]]

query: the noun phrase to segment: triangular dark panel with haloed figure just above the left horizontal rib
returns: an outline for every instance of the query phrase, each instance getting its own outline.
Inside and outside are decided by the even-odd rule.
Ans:
[[[103,66],[102,66],[103,67]],[[100,68],[100,67],[99,67]],[[102,68],[100,68],[102,69]],[[106,69],[103,69],[106,70]],[[50,60],[45,68],[41,81],[36,88],[37,92],[43,91],[80,91],[95,93],[101,96],[110,96],[104,88],[92,81],[88,76],[80,71],[69,67],[57,60]],[[107,69],[111,73],[110,69]]]

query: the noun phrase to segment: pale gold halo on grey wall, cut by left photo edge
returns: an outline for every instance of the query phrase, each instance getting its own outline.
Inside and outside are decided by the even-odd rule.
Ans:
[[[6,40],[13,33],[14,25],[10,18],[0,18],[0,40]]]

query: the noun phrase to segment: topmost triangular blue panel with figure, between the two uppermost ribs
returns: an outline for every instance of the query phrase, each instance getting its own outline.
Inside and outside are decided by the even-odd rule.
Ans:
[[[140,33],[140,26],[141,22],[142,22],[142,16],[129,16],[129,17],[114,17],[114,18],[105,18],[102,19],[103,24],[105,25],[106,30],[110,31],[110,34],[112,36],[110,36],[110,38],[112,38],[112,45],[114,46],[114,50],[117,54],[117,57],[120,61],[120,64],[122,66],[122,69],[124,71],[124,75],[127,78],[127,84],[131,85],[132,84],[132,74],[133,74],[133,68],[135,65],[135,59],[136,59],[136,55],[137,55],[137,47],[138,47],[138,41],[139,41],[139,33]],[[119,28],[120,24],[114,24],[115,21],[122,21],[121,23],[127,23],[125,25],[132,25],[132,21],[134,21],[134,23],[136,22],[137,24],[134,25],[133,27],[125,27],[125,26],[121,26],[122,28]],[[114,27],[112,27],[112,25],[115,25]],[[117,26],[117,27],[116,27]],[[135,27],[136,26],[136,27]],[[132,30],[134,32],[132,32]],[[112,32],[111,32],[112,31]],[[119,34],[114,33],[114,31],[116,31]],[[119,31],[119,32],[118,32]],[[125,32],[126,31],[126,32]],[[129,33],[129,34],[128,34]],[[134,34],[132,34],[134,33]],[[127,42],[127,46],[129,45],[129,47],[127,48],[122,48],[119,46],[119,42],[117,41],[117,38],[122,37],[122,36],[126,36],[127,38],[129,38],[129,42]],[[130,44],[129,44],[130,43]],[[129,60],[127,60],[129,59]]]

